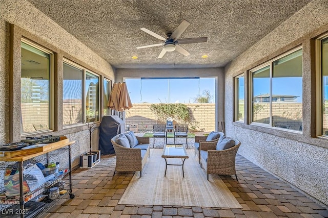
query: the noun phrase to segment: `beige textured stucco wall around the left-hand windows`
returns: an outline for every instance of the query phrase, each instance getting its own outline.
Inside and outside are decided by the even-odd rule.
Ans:
[[[10,107],[10,90],[9,90],[9,38],[10,28],[9,24],[12,23],[20,29],[23,34],[26,34],[30,40],[42,41],[46,44],[48,49],[54,49],[58,55],[58,81],[62,76],[63,57],[72,59],[84,67],[95,70],[97,73],[106,76],[110,80],[114,80],[114,69],[103,58],[91,51],[87,46],[78,41],[75,37],[70,35],[67,31],[57,25],[49,17],[45,16],[39,10],[34,8],[30,3],[25,0],[2,0],[0,3],[0,143],[10,142],[10,136],[13,134],[19,135],[19,129],[14,129],[10,132],[9,120]],[[20,61],[20,60],[18,60]],[[20,68],[14,69],[19,71]],[[19,95],[20,81],[14,81],[14,91]],[[63,84],[58,82],[58,131],[52,132],[54,135],[66,135],[70,140],[75,140],[76,143],[72,146],[72,159],[73,165],[79,163],[79,155],[88,151],[89,148],[89,131],[85,125],[79,127],[72,127],[70,129],[63,129],[61,123],[61,110],[62,110],[62,90]],[[14,93],[15,94],[15,93]],[[19,102],[19,101],[18,101]],[[15,110],[13,113],[19,113]],[[19,124],[18,124],[19,125]],[[94,149],[98,149],[98,129],[93,132],[92,143]],[[14,137],[17,141],[17,137]],[[64,157],[62,162],[67,162],[67,157]],[[65,164],[63,164],[65,167]]]

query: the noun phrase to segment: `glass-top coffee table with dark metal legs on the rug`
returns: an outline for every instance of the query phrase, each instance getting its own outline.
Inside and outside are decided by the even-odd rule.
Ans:
[[[182,175],[185,177],[185,172],[183,172],[183,164],[185,163],[185,160],[188,157],[187,151],[185,146],[183,144],[166,144],[163,149],[162,158],[165,159],[165,174],[166,176],[166,170],[168,165],[174,165],[174,166],[182,166]],[[181,164],[169,164],[167,161],[167,158],[181,158],[182,163]]]

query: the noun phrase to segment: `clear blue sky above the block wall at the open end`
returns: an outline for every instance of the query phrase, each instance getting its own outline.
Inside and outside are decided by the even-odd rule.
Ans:
[[[126,79],[132,103],[194,103],[208,90],[215,103],[215,78]]]

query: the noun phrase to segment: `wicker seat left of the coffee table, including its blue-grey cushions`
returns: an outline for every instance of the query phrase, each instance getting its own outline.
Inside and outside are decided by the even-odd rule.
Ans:
[[[111,139],[115,153],[115,172],[141,171],[149,157],[149,137],[135,136],[132,131],[118,134]]]

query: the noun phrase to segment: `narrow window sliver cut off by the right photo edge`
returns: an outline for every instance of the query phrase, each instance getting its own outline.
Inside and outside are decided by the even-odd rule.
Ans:
[[[321,51],[321,134],[328,135],[328,37],[320,41]]]

